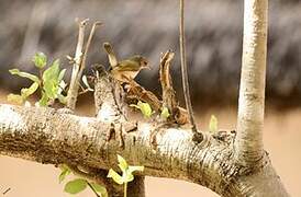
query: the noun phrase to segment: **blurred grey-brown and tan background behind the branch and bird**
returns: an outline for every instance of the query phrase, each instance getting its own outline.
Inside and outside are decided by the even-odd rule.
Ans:
[[[211,114],[221,128],[235,128],[238,93],[243,1],[189,0],[186,3],[186,33],[192,103],[202,130],[208,129]],[[267,68],[267,108],[265,148],[292,196],[301,196],[301,1],[269,2]],[[51,59],[59,58],[70,74],[67,55],[75,53],[78,27],[75,19],[101,21],[88,55],[86,72],[99,62],[108,65],[102,49],[110,42],[120,59],[141,54],[150,62],[137,81],[160,95],[158,62],[160,53],[172,49],[174,83],[182,103],[178,2],[175,0],[0,0],[0,102],[9,92],[30,85],[8,70],[19,68],[36,72],[31,61],[36,51]],[[152,81],[152,82],[150,82]],[[91,94],[79,97],[78,112],[93,115]],[[83,102],[86,101],[86,102]],[[89,101],[89,102],[87,102]],[[58,170],[18,159],[0,158],[0,195],[68,196],[57,182]],[[207,196],[212,192],[193,184],[147,177],[147,196]],[[79,196],[92,196],[89,192]]]

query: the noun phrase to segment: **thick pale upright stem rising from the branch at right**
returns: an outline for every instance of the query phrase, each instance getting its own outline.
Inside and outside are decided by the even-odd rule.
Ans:
[[[268,0],[245,0],[244,46],[235,158],[249,164],[263,158]]]

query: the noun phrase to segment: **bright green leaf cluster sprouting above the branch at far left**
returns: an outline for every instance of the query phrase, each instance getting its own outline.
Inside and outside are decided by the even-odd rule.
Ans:
[[[9,70],[13,76],[31,80],[32,84],[29,88],[21,89],[20,94],[9,94],[8,100],[18,104],[24,104],[27,97],[40,89],[41,99],[37,103],[40,106],[47,106],[56,99],[65,104],[66,96],[63,95],[63,91],[66,88],[66,83],[63,78],[66,69],[60,70],[59,59],[54,60],[47,66],[47,57],[43,53],[37,53],[34,55],[32,61],[40,71],[38,77],[22,72],[19,69]]]

